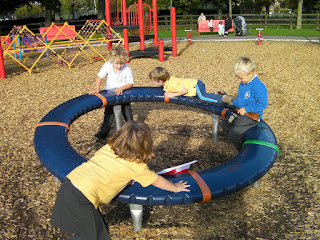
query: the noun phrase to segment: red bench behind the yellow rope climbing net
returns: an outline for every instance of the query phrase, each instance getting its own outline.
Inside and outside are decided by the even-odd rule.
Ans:
[[[49,29],[50,28],[50,29]],[[61,32],[60,29],[62,29]],[[48,31],[49,29],[49,31]],[[76,36],[76,28],[75,25],[53,25],[51,27],[40,27],[40,34],[43,36],[46,31],[46,40],[66,40],[66,39],[73,39]],[[59,32],[59,34],[58,34]],[[58,34],[58,35],[57,35]],[[56,36],[57,35],[57,36]]]

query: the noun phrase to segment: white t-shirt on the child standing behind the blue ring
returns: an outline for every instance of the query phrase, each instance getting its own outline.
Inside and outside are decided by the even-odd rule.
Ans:
[[[126,85],[127,83],[134,84],[133,73],[131,68],[124,64],[119,72],[113,70],[113,63],[111,61],[106,62],[98,73],[98,77],[107,77],[106,85],[104,89],[116,89]]]

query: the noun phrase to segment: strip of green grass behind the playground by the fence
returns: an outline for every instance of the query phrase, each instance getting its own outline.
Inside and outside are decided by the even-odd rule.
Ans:
[[[285,29],[282,26],[270,26],[267,29],[264,28],[262,31],[263,36],[300,36],[300,37],[320,37],[320,30],[313,29]],[[249,36],[257,36],[258,31],[256,28],[261,28],[261,26],[248,26],[250,31]],[[263,28],[263,27],[262,27]],[[191,34],[197,36],[197,30],[192,30]],[[171,31],[159,30],[159,38],[170,38]],[[218,33],[201,33],[201,36],[215,36],[218,37]],[[185,30],[177,30],[177,37],[187,37],[187,32]]]

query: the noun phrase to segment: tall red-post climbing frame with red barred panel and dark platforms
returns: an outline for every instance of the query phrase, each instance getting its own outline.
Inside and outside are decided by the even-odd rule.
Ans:
[[[106,22],[115,30],[123,30],[124,48],[130,57],[145,57],[163,54],[158,40],[157,1],[152,0],[152,7],[138,0],[126,9],[126,1],[121,0],[121,6],[116,0],[106,1]],[[121,8],[121,14],[119,9]],[[119,19],[121,15],[121,19]],[[171,8],[172,47],[164,47],[162,51],[172,51],[177,56],[175,8]],[[150,35],[153,31],[154,35]],[[132,36],[128,36],[131,33]],[[146,48],[145,40],[153,38],[153,47]],[[140,49],[129,51],[130,42],[140,42]],[[111,47],[111,46],[110,46]],[[110,48],[109,48],[110,49]],[[160,57],[160,56],[159,56]],[[160,58],[161,61],[161,58]]]

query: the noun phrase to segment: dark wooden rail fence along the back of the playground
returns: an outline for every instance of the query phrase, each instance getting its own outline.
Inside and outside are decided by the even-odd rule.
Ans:
[[[233,15],[235,18],[238,15]],[[297,24],[297,16],[295,14],[242,14],[246,19],[247,25],[250,28],[251,26],[260,26],[265,29],[267,28],[286,28],[294,29]],[[221,19],[218,15],[207,15],[207,19]],[[197,19],[198,15],[176,15],[177,29],[196,29],[197,28]],[[302,15],[302,28],[311,28],[311,29],[320,29],[320,14],[303,14]],[[67,21],[70,25],[75,25],[76,30],[80,30],[81,27],[85,24],[86,20],[64,20]],[[64,22],[61,21],[61,22]],[[56,21],[59,22],[59,21]],[[13,25],[19,25],[19,23],[14,23],[13,21],[0,22],[0,34],[7,35]],[[23,24],[20,24],[23,25]],[[44,22],[29,22],[26,24],[28,28],[37,33],[39,28],[44,26]],[[170,15],[158,15],[158,27],[160,30],[170,31]]]

